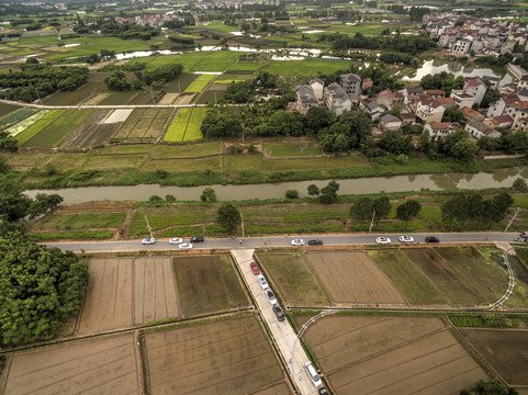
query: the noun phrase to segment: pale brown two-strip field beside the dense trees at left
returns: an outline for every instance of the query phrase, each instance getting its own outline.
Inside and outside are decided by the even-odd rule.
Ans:
[[[109,258],[89,262],[79,334],[178,317],[170,258]]]

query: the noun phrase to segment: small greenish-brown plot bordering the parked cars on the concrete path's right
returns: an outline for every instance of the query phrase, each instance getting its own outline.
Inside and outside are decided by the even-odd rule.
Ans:
[[[305,255],[259,253],[258,258],[288,305],[328,306],[330,304],[323,286],[312,273]]]

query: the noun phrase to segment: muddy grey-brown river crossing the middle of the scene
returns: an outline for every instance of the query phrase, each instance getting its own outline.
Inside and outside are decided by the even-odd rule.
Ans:
[[[339,194],[366,194],[380,192],[406,192],[428,189],[440,190],[481,190],[486,188],[512,187],[517,177],[528,178],[528,166],[497,169],[493,173],[438,173],[338,180]],[[295,181],[277,184],[210,185],[216,191],[220,201],[283,199],[288,190],[299,191],[301,198],[307,196],[310,184],[322,188],[328,180]],[[34,198],[37,193],[57,193],[64,203],[85,203],[92,201],[146,201],[151,195],[165,199],[173,195],[178,201],[198,201],[206,187],[164,187],[139,184],[123,187],[85,187],[59,190],[30,190],[25,193]]]

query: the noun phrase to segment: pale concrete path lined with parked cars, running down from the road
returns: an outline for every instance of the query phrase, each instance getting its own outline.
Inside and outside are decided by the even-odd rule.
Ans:
[[[290,376],[292,376],[292,365],[291,360],[293,359],[293,370],[295,376],[292,377],[295,386],[300,394],[303,395],[316,395],[317,388],[312,384],[306,371],[303,368],[303,363],[308,361],[308,357],[304,352],[302,346],[297,342],[295,347],[295,354],[292,358],[293,346],[295,345],[295,332],[290,326],[288,320],[280,323],[273,313],[271,304],[266,297],[266,293],[257,281],[257,276],[252,273],[249,262],[251,262],[254,249],[238,249],[232,250],[231,253],[235,258],[240,268],[240,272],[244,275],[244,280],[248,286],[249,292],[251,292],[255,301],[257,302],[257,308],[260,311],[263,319],[268,324],[273,338],[279,346],[279,350],[282,354],[284,361],[287,361],[288,368],[290,369]],[[274,290],[272,290],[274,293]],[[281,306],[282,308],[282,306]]]

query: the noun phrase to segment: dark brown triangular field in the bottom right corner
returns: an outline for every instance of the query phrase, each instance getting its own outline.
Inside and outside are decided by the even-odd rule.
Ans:
[[[509,385],[528,385],[528,330],[459,331]]]

